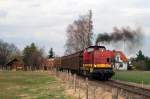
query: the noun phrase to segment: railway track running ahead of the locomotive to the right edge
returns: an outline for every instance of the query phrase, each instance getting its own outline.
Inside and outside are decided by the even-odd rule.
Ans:
[[[79,76],[78,76],[79,77]],[[79,79],[84,79],[85,77],[79,77]],[[98,80],[89,80],[89,84],[93,86],[102,86],[106,85],[112,88],[118,88],[122,89],[128,93],[135,94],[142,96],[144,98],[142,99],[150,99],[150,89],[142,87],[142,86],[137,86],[134,84],[129,84],[126,82],[122,81],[115,81],[115,80],[109,80],[109,81],[98,81]],[[111,90],[110,90],[111,91]]]

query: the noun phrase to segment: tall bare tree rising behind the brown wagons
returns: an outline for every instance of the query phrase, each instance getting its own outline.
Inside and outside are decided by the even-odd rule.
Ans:
[[[67,28],[66,54],[81,51],[92,44],[92,12],[82,15]]]

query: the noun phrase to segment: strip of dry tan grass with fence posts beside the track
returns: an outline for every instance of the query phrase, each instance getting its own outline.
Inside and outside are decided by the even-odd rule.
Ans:
[[[61,79],[67,85],[67,89],[73,90],[77,99],[141,99],[122,89],[113,88],[104,84],[94,85],[88,78],[78,77],[68,71],[52,71],[52,74]]]

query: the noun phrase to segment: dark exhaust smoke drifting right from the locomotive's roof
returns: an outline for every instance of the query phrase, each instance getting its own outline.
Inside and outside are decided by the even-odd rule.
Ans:
[[[144,34],[140,27],[135,30],[130,27],[126,28],[113,28],[112,33],[103,33],[99,34],[96,39],[96,45],[98,43],[112,44],[117,47],[122,47],[122,44],[125,44],[125,49],[128,52],[133,52],[135,49],[140,48],[143,44]],[[120,44],[122,42],[122,44]]]

